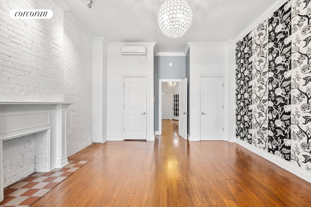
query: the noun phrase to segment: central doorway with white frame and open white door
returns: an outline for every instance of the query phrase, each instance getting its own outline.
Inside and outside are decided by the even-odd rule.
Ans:
[[[173,82],[170,87],[169,82]],[[172,84],[171,84],[172,85]],[[187,139],[187,79],[159,80],[159,131],[162,134],[163,120],[178,121],[178,134]]]

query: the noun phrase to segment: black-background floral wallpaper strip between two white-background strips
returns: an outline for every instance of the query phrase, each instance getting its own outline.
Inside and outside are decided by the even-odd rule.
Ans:
[[[268,151],[291,159],[291,4],[269,18]]]

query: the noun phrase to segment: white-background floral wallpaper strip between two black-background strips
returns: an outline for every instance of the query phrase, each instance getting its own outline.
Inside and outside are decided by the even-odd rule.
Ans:
[[[252,144],[268,150],[268,22],[252,32]]]

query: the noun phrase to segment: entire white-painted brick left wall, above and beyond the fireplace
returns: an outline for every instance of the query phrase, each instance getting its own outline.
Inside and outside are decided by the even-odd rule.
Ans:
[[[8,15],[25,8],[49,8],[53,17]],[[0,101],[74,102],[67,110],[67,155],[85,148],[92,142],[92,35],[54,1],[0,0],[0,16]]]

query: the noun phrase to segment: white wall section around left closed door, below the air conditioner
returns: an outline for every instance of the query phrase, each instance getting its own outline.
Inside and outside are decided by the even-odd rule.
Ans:
[[[139,44],[139,43],[138,43]],[[147,140],[154,140],[154,43],[143,43],[145,60],[140,56],[122,56],[121,47],[135,43],[109,43],[107,48],[107,140],[122,140],[122,77],[147,76],[149,93],[147,111]],[[142,44],[139,44],[140,46]]]

